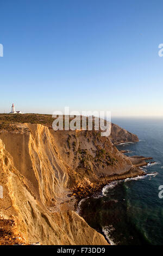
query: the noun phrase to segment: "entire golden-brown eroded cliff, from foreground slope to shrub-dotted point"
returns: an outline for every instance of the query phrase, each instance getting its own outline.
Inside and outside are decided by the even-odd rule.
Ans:
[[[40,124],[14,125],[13,131],[0,134],[0,185],[4,188],[0,208],[4,218],[15,221],[17,233],[26,243],[108,244],[68,209],[72,199],[67,194],[76,185],[84,189],[84,184],[106,184],[142,170],[98,132],[55,132]],[[66,206],[65,200],[69,200]]]

